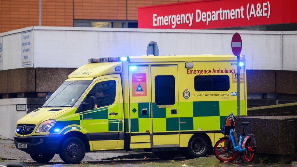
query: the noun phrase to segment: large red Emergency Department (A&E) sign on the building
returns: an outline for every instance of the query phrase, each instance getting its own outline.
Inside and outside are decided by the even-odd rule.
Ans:
[[[138,7],[138,28],[210,29],[297,23],[296,0],[201,0]]]

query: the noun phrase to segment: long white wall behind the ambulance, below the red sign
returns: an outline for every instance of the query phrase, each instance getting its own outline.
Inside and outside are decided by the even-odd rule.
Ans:
[[[27,27],[3,36],[3,70],[21,68],[21,32],[32,30],[34,67],[78,68],[94,57],[146,54],[150,41],[159,55],[232,54],[234,30],[166,30],[85,27]],[[237,31],[246,69],[294,70],[297,32]],[[6,51],[5,51],[6,50]],[[292,61],[293,60],[293,61]],[[295,60],[295,61],[294,61]]]

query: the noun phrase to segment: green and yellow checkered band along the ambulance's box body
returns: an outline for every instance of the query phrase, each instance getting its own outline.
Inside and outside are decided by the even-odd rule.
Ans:
[[[225,117],[233,111],[237,115],[237,101],[199,101],[180,102],[178,114],[171,114],[171,108],[159,108],[151,103],[131,103],[131,132],[144,132],[150,125],[152,117],[153,132],[178,130],[219,130],[225,125]],[[241,101],[241,115],[246,114],[245,100]],[[141,110],[148,109],[148,115],[143,116]],[[140,109],[140,110],[139,110]],[[134,111],[132,111],[134,110]],[[135,111],[136,110],[136,111]],[[178,117],[179,116],[179,117]],[[128,121],[125,120],[127,123]],[[125,130],[128,125],[125,125]]]

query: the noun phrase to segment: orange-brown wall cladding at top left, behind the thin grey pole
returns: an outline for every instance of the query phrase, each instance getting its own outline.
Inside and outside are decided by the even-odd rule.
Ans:
[[[0,0],[0,11],[0,33],[39,25],[39,0]],[[72,0],[42,0],[41,14],[42,26],[73,26]]]

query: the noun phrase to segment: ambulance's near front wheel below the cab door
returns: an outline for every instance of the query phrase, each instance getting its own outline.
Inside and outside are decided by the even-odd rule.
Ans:
[[[60,150],[60,158],[68,164],[76,164],[82,161],[86,154],[86,146],[77,137],[70,137],[64,141]]]

